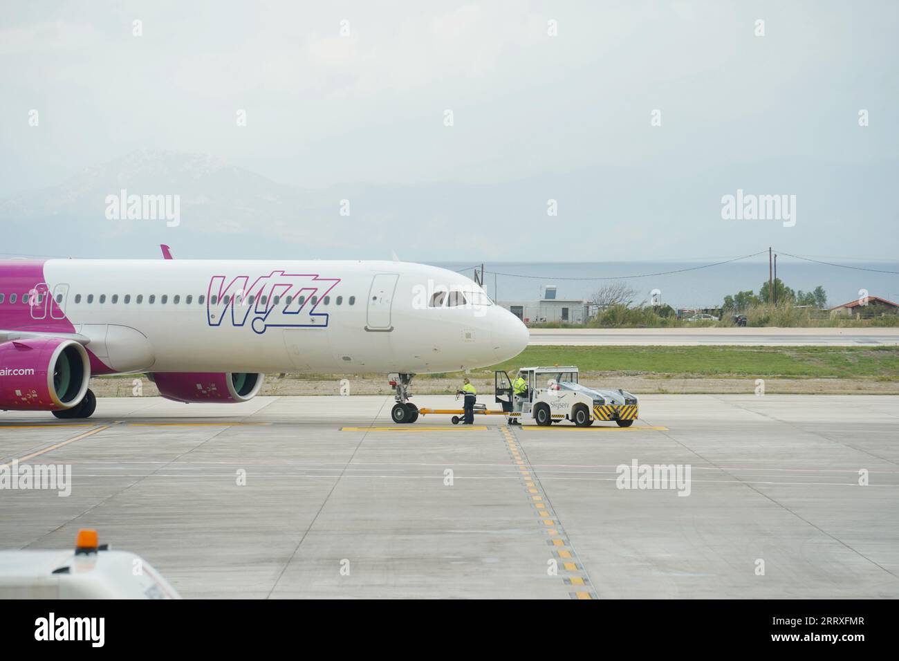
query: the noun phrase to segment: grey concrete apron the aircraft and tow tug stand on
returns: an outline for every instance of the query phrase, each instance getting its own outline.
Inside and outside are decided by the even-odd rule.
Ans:
[[[97,528],[185,597],[899,597],[899,397],[646,396],[628,429],[391,404],[0,413],[0,463],[72,467],[71,496],[0,490],[0,548]],[[619,488],[635,462],[683,481]]]

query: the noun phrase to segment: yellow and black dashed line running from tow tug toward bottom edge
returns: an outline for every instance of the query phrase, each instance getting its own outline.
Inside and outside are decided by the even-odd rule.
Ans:
[[[521,478],[524,492],[533,508],[540,533],[547,538],[547,551],[551,558],[556,559],[558,567],[557,578],[562,579],[562,585],[568,590],[568,596],[572,599],[598,599],[592,591],[590,577],[587,576],[583,565],[578,562],[577,554],[565,534],[565,529],[559,523],[553,506],[549,503],[547,495],[540,486],[539,479],[535,477],[534,470],[530,466],[521,445],[508,427],[500,427],[503,434],[503,442],[509,451]]]

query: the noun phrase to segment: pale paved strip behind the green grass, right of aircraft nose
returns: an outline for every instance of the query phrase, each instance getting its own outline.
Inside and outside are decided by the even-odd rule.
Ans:
[[[899,328],[531,328],[530,344],[868,346],[899,344]]]

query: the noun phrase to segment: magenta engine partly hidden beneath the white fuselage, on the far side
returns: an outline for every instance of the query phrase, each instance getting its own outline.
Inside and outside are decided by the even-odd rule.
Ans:
[[[175,402],[246,402],[263,387],[263,375],[247,372],[155,372],[149,375],[159,394]]]

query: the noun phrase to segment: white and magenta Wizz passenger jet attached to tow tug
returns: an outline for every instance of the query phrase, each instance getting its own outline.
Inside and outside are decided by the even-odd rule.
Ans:
[[[167,255],[165,248],[164,253]],[[503,362],[528,329],[456,272],[400,262],[0,261],[0,409],[93,414],[94,375],[179,402],[245,402],[265,372],[416,373]]]

